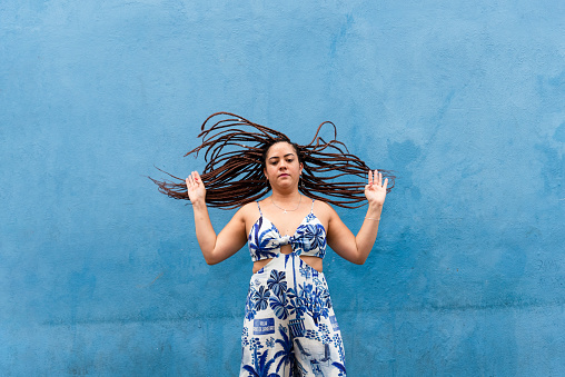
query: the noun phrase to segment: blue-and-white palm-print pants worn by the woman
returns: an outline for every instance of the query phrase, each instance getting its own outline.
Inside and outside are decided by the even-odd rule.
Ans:
[[[279,254],[251,277],[239,376],[346,376],[324,274],[295,252]]]

